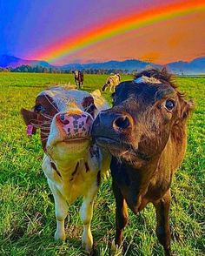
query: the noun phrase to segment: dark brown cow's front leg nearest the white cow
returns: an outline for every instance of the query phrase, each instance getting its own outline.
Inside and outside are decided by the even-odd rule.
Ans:
[[[122,245],[122,232],[124,227],[128,223],[128,207],[125,202],[125,199],[122,196],[122,192],[120,191],[118,185],[116,185],[115,181],[113,181],[113,192],[116,198],[116,238],[115,244],[112,244],[112,253],[117,251]]]

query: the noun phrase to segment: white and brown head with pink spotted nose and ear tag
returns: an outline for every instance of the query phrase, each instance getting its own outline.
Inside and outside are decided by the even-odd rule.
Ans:
[[[51,158],[78,158],[87,153],[96,115],[94,98],[88,92],[51,88],[38,95],[32,111],[23,109],[22,114],[29,133],[40,128],[43,150]]]

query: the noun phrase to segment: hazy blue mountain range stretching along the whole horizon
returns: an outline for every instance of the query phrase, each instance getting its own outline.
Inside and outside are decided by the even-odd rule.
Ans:
[[[23,64],[27,64],[30,66],[43,66],[43,67],[53,67],[61,70],[82,70],[82,69],[105,69],[105,70],[127,70],[127,71],[141,71],[142,69],[148,67],[162,67],[160,64],[153,64],[150,62],[144,62],[137,59],[128,59],[125,61],[115,61],[111,60],[108,62],[102,63],[89,63],[89,64],[64,64],[62,66],[54,66],[49,64],[46,61],[39,60],[27,60],[19,57],[14,57],[10,55],[0,55],[0,67],[18,67]],[[205,73],[205,57],[198,57],[190,62],[178,61],[166,64],[169,71],[178,74],[204,74]]]

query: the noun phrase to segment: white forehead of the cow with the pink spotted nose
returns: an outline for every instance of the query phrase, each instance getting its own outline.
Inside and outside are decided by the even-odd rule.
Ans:
[[[42,91],[38,96],[49,96],[59,111],[66,110],[71,104],[72,107],[83,109],[84,98],[92,97],[87,91],[65,90],[63,88],[51,88]]]

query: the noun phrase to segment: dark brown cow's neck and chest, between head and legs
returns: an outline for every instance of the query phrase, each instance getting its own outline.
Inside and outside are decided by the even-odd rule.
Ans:
[[[129,208],[137,213],[150,201],[168,191],[174,171],[182,162],[186,149],[185,125],[175,126],[162,153],[145,165],[118,164],[112,175],[121,188]]]

